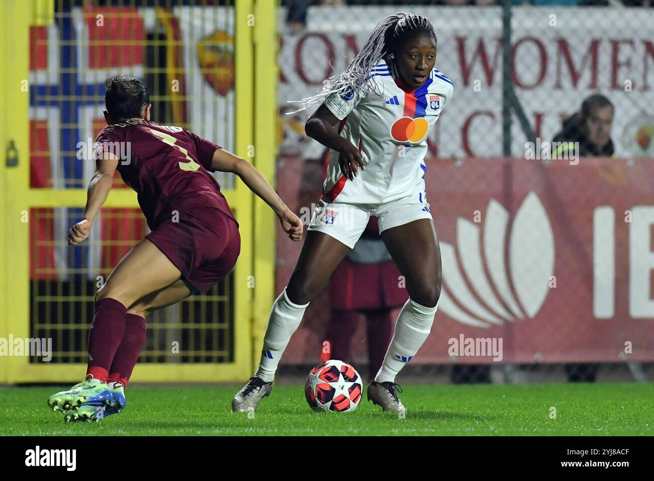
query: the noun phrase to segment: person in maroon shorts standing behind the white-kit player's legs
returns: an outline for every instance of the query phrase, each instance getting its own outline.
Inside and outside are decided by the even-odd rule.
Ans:
[[[330,278],[332,315],[326,331],[329,359],[353,363],[352,336],[360,315],[366,317],[369,381],[381,368],[393,334],[391,312],[402,308],[409,294],[400,270],[379,236],[377,217]],[[356,349],[358,350],[358,349]]]

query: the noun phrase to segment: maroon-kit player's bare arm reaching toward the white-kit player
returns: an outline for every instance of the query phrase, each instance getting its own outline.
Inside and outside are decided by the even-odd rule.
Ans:
[[[279,198],[275,189],[250,162],[232,154],[232,152],[217,149],[211,159],[211,168],[223,172],[232,172],[241,177],[245,185],[275,211],[288,237],[294,241],[299,241],[302,238],[303,226],[300,218],[292,213],[283,200]]]

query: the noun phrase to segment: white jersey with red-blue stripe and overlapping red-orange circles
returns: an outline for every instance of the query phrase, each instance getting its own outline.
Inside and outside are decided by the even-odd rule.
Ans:
[[[384,60],[371,70],[374,92],[332,94],[324,105],[341,120],[338,132],[358,147],[366,165],[353,181],[341,173],[339,152],[326,158],[323,198],[347,204],[381,204],[415,195],[424,199],[427,134],[452,96],[452,82],[433,69],[421,87],[407,86],[394,63]]]

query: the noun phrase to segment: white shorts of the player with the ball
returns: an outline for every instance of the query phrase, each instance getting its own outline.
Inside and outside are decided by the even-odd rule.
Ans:
[[[377,217],[380,234],[418,219],[432,219],[429,204],[415,202],[416,197],[407,196],[383,204],[344,204],[320,200],[313,210],[307,230],[324,232],[353,249],[366,230],[371,215]]]

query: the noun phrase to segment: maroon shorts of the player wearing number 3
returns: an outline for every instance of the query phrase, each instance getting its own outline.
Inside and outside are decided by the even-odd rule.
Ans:
[[[183,279],[205,293],[236,264],[241,252],[238,225],[214,207],[179,209],[177,220],[164,221],[145,238],[173,262]]]

